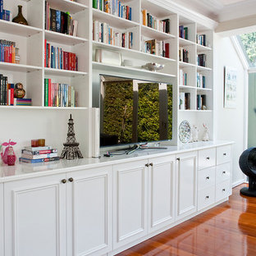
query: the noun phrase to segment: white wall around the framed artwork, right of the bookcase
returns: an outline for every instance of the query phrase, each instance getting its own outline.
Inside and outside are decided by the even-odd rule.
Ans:
[[[245,88],[246,75],[244,66],[240,62],[231,39],[215,35],[214,54],[214,84],[215,84],[215,131],[217,139],[233,140],[233,185],[245,179],[239,167],[240,154],[247,147],[245,141]],[[237,69],[237,107],[235,109],[223,107],[224,94],[224,66]]]

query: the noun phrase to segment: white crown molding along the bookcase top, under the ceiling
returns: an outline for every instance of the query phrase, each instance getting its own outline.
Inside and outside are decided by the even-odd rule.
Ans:
[[[199,1],[199,0],[196,0],[196,1]],[[184,16],[191,21],[202,24],[210,30],[215,30],[215,28],[217,27],[217,21],[213,21],[213,19],[210,19],[208,16],[204,16],[199,12],[192,11],[188,7],[184,7],[181,4],[178,4],[172,0],[171,1],[170,0],[169,1],[168,0],[149,0],[149,2],[157,4],[161,7],[164,5],[164,7],[166,7],[168,10],[176,12],[179,15]],[[207,1],[205,0],[205,2]]]

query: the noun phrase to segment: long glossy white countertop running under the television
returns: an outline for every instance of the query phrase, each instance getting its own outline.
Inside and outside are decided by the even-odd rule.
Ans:
[[[154,158],[166,156],[169,154],[185,153],[194,150],[208,149],[212,147],[233,144],[232,141],[200,141],[181,146],[166,146],[167,149],[138,149],[134,153],[112,156],[110,158],[82,158],[75,160],[60,160],[56,162],[41,163],[20,163],[16,162],[15,166],[9,167],[2,165],[0,167],[0,183],[7,181],[16,181],[36,176],[47,176],[66,171],[79,171],[93,167],[112,165],[120,162],[130,162],[130,160],[141,160],[145,158]],[[103,152],[106,153],[106,152]]]

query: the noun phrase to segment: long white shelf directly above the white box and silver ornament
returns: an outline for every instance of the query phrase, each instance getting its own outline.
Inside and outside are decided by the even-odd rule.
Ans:
[[[134,57],[136,59],[145,59],[147,58],[147,60],[150,61],[161,61],[162,63],[170,63],[170,62],[176,62],[175,59],[171,59],[171,58],[167,58],[167,57],[162,57],[162,56],[157,56],[157,55],[153,55],[150,53],[144,53],[144,52],[140,52],[134,49],[129,49],[129,48],[123,48],[123,47],[118,47],[115,45],[111,45],[111,44],[107,44],[107,43],[100,43],[100,42],[96,42],[93,41],[93,45],[94,48],[105,48],[105,49],[109,49],[112,51],[117,51],[119,53],[122,54],[129,54],[130,57]]]

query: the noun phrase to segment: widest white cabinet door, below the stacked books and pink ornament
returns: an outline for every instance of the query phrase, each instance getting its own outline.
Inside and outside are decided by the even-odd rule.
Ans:
[[[5,256],[66,255],[65,177],[5,183]]]

